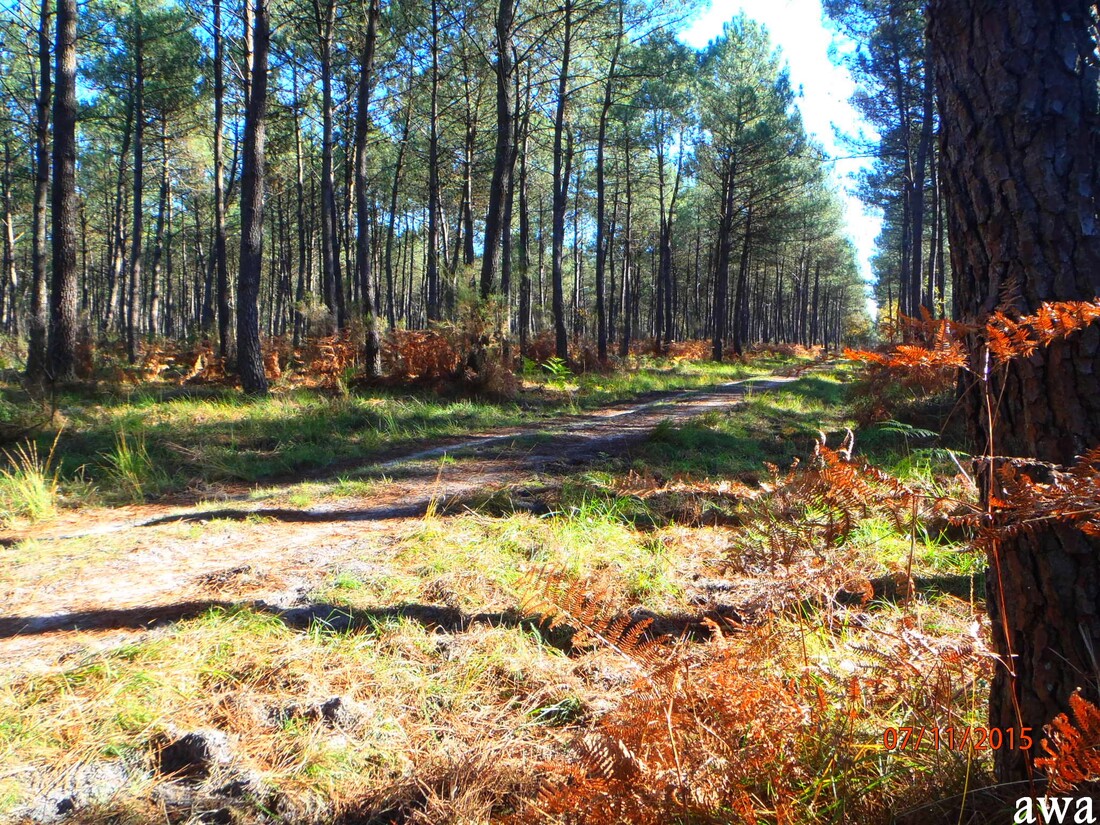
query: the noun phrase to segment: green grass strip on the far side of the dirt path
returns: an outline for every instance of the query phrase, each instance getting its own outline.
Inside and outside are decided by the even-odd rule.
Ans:
[[[635,369],[571,376],[568,385],[537,371],[525,392],[504,403],[396,389],[334,396],[285,389],[254,399],[233,391],[188,392],[155,383],[122,393],[69,394],[57,399],[52,425],[65,429],[56,477],[63,494],[85,504],[285,480],[427,441],[536,424],[652,393],[714,386],[788,363],[774,358],[746,364],[639,359]],[[21,392],[0,387],[0,403],[18,406]],[[42,435],[37,449],[45,451],[48,442]]]

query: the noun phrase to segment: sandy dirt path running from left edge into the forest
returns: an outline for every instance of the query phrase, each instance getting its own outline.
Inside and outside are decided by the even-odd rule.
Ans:
[[[794,380],[749,378],[433,446],[362,466],[356,475],[373,484],[354,498],[292,507],[245,493],[191,507],[80,510],[0,537],[0,570],[14,571],[0,576],[0,667],[55,667],[217,604],[289,608],[333,570],[362,565],[372,549],[417,529],[426,513],[573,471],[627,450],[661,421],[682,424]]]

